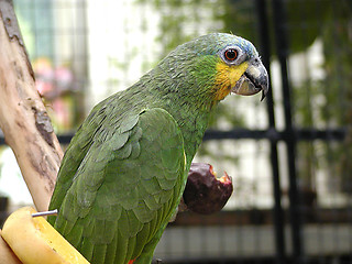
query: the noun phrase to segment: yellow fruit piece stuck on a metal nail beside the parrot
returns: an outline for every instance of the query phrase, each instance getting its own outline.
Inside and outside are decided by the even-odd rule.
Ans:
[[[0,263],[89,264],[43,217],[33,218],[35,212],[24,207],[7,219],[1,237],[15,256],[0,243]]]

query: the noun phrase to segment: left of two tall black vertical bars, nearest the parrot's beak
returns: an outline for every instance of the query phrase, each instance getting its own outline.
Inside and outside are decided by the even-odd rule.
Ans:
[[[267,18],[267,4],[266,1],[255,0],[256,15],[257,15],[257,32],[260,34],[260,47],[262,55],[262,62],[268,73],[270,84],[271,81],[271,44],[270,44],[270,30],[268,30],[268,18]],[[268,130],[276,131],[275,127],[275,109],[273,100],[273,89],[268,90],[266,97],[266,109],[268,117]],[[286,242],[285,242],[285,218],[284,210],[282,207],[282,191],[279,182],[279,168],[278,168],[278,152],[277,152],[277,136],[270,139],[271,142],[271,165],[273,175],[273,196],[274,196],[274,207],[273,207],[273,220],[274,220],[274,231],[275,231],[275,262],[277,264],[286,263]]]

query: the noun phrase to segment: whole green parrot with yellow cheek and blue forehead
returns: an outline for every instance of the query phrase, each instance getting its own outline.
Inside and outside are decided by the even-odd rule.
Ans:
[[[50,223],[90,263],[151,263],[211,111],[231,91],[267,89],[251,42],[212,33],[179,45],[91,110],[65,153]]]

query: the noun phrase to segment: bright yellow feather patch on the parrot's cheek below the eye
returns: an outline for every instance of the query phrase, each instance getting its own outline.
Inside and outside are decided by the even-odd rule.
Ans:
[[[222,61],[217,64],[217,76],[215,82],[215,100],[220,101],[226,98],[231,88],[235,86],[235,82],[244,74],[249,64],[246,62],[240,65],[227,65]]]

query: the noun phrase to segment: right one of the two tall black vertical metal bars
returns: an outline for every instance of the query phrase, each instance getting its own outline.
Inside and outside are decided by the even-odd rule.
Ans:
[[[293,128],[292,96],[288,81],[287,58],[288,42],[286,36],[286,13],[282,0],[273,0],[273,22],[276,41],[278,62],[280,65],[282,87],[284,97],[285,116],[285,142],[288,160],[288,182],[289,182],[289,219],[292,227],[293,262],[304,263],[304,240],[301,234],[301,213],[299,211],[299,193],[296,172],[296,144],[297,138]]]

